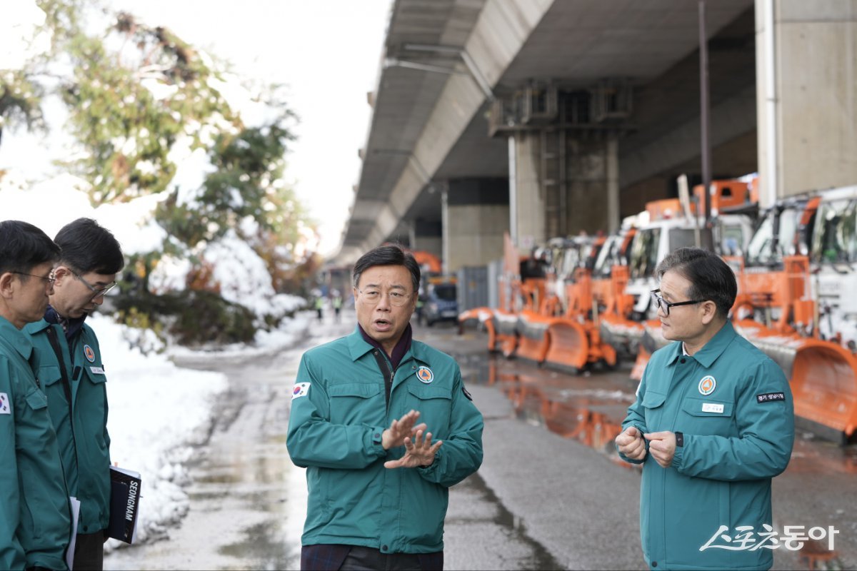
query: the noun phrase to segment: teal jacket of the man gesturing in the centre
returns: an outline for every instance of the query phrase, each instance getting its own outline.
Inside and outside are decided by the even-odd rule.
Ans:
[[[482,464],[482,414],[455,360],[417,341],[395,371],[387,406],[375,350],[355,330],[301,359],[286,444],[307,467],[302,543],[440,551],[448,488]],[[385,468],[405,447],[383,449],[381,433],[411,409],[443,444],[431,466]]]

